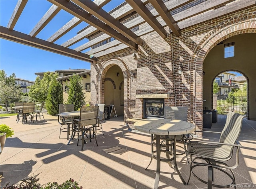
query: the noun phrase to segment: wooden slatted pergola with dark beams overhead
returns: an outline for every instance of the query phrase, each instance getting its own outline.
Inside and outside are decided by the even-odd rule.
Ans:
[[[28,0],[18,0],[8,26],[0,26],[0,37],[87,62],[97,61],[98,57],[128,47],[138,49],[139,45],[144,44],[142,36],[150,32],[157,32],[163,39],[170,33],[178,37],[185,28],[255,6],[255,0],[126,0],[114,10],[106,12],[102,7],[111,0],[48,1],[52,6],[41,20],[30,33],[22,33],[15,31],[14,27]],[[191,4],[193,4],[192,8]],[[35,7],[37,8],[39,7]],[[60,10],[72,14],[74,18],[55,33],[51,33],[51,37],[47,40],[37,38],[38,33],[42,32]],[[62,44],[54,43],[82,22],[88,23],[89,26]],[[138,30],[132,30],[135,27],[138,27]],[[73,49],[70,47],[99,32],[102,32],[102,35],[97,35],[98,37],[87,43]],[[116,40],[96,47],[97,44],[111,37]],[[82,52],[90,48],[91,50]]]

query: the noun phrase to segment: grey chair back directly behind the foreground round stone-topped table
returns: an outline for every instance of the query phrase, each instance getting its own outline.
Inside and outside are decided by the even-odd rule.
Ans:
[[[164,119],[188,120],[188,107],[185,106],[165,106]]]

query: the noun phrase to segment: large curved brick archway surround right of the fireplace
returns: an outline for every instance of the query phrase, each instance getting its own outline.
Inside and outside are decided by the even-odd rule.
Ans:
[[[190,71],[192,73],[190,80],[193,81],[191,95],[194,97],[190,101],[190,106],[193,107],[194,111],[190,112],[190,114],[193,114],[194,123],[200,130],[202,130],[203,102],[200,99],[203,99],[202,76],[204,59],[210,50],[224,39],[243,33],[256,33],[256,18],[254,17],[253,15],[245,14],[242,18],[228,20],[227,23],[216,27],[216,30],[204,35],[205,37],[193,50],[194,55],[190,59]],[[234,24],[235,21],[236,23]]]

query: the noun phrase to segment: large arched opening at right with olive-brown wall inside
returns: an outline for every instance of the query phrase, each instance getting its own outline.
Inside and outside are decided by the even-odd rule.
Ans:
[[[224,39],[209,51],[203,64],[203,109],[212,109],[217,105],[215,104],[213,97],[214,94],[212,85],[214,81],[217,80],[220,82],[220,84],[222,84],[220,85],[220,91],[218,91],[219,96],[228,96],[228,94],[232,92],[232,89],[235,88],[235,86],[233,87],[232,85],[238,85],[238,83],[240,83],[236,82],[235,75],[232,75],[232,71],[235,71],[239,73],[239,75],[243,75],[244,80],[246,80],[242,83],[242,85],[246,83],[247,99],[244,99],[246,100],[245,109],[247,109],[247,117],[250,119],[250,109],[251,111],[254,109],[254,106],[252,106],[252,104],[250,105],[250,96],[256,92],[254,89],[250,89],[249,87],[249,81],[256,79],[255,74],[252,72],[252,70],[255,70],[256,68],[254,64],[256,55],[254,53],[254,48],[252,48],[255,46],[255,44],[253,45],[252,43],[255,42],[255,33],[234,35],[233,37]],[[226,47],[230,45],[234,45],[234,51],[231,53],[231,56],[226,56]],[[239,86],[239,88],[241,87],[242,86]],[[230,102],[232,101],[233,100]],[[224,110],[224,113],[227,111],[235,111],[243,114],[241,109],[236,110],[236,104],[228,104],[228,106],[232,107],[225,107],[226,109]],[[253,112],[251,113],[251,118],[254,119],[255,115]]]

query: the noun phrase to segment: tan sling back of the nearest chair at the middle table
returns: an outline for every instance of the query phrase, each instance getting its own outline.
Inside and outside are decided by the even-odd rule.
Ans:
[[[98,120],[99,106],[82,106],[80,108],[80,127],[96,125]]]

